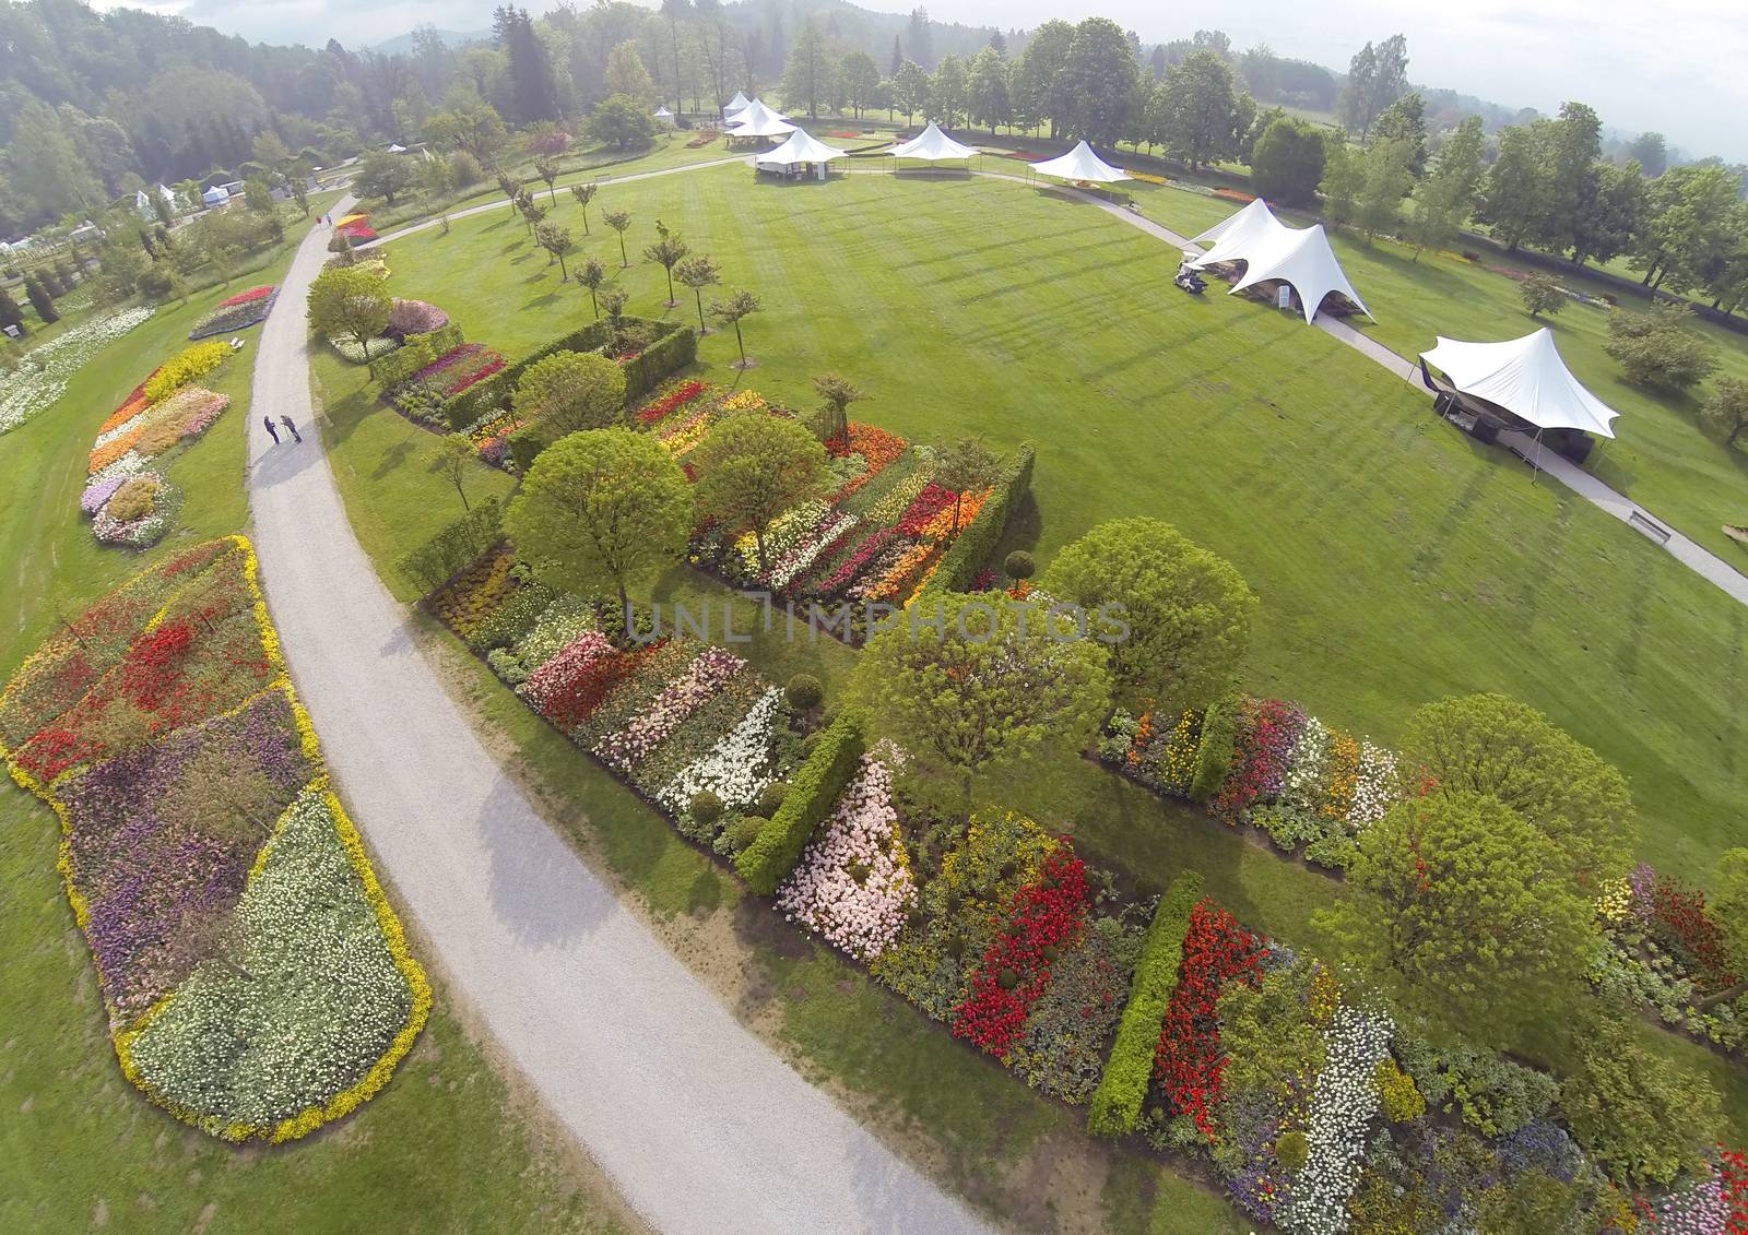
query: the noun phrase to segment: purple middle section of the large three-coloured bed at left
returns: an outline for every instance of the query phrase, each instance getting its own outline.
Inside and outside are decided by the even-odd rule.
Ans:
[[[212,950],[260,845],[315,774],[280,690],[59,786],[70,882],[110,1004],[136,1017]]]

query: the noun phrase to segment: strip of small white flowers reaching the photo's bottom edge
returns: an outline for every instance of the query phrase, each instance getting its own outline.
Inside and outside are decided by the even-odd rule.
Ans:
[[[1323,1071],[1311,1094],[1306,1137],[1311,1155],[1294,1179],[1285,1226],[1297,1235],[1341,1235],[1348,1198],[1360,1183],[1365,1125],[1377,1114],[1374,1073],[1390,1050],[1390,1017],[1342,1004],[1325,1039]]]

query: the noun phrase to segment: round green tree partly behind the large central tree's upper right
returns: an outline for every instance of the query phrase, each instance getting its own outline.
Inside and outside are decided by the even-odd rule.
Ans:
[[[1161,709],[1201,707],[1225,690],[1250,643],[1257,597],[1225,559],[1159,519],[1113,519],[1063,549],[1044,590],[1127,624],[1110,645],[1117,681]]]

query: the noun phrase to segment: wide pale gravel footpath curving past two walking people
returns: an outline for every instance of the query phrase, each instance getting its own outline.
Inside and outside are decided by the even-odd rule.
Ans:
[[[271,445],[250,426],[255,543],[353,819],[451,989],[662,1232],[988,1230],[748,1034],[444,693],[351,535],[311,423],[302,306],[325,241],[318,227],[299,246],[260,334],[253,412],[290,416],[304,440]]]

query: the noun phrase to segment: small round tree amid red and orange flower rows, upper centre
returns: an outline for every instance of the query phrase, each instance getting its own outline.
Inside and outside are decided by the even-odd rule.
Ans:
[[[697,512],[729,535],[752,533],[759,569],[764,535],[785,510],[825,493],[825,447],[801,423],[764,411],[731,412],[692,451]]]

